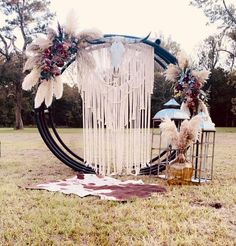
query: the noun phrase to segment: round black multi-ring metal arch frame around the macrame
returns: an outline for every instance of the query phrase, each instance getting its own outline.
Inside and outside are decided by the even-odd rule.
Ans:
[[[109,38],[113,36],[120,36],[124,38],[129,38],[133,40],[139,40],[138,37],[127,36],[127,35],[114,35],[107,34],[104,35],[104,38]],[[152,42],[150,40],[144,39],[141,42],[150,45],[154,48],[154,60],[157,62],[163,69],[167,67],[168,64],[173,63],[177,64],[177,59],[171,55],[167,50],[160,47],[160,40],[156,40]],[[97,41],[96,44],[104,43],[104,41]],[[61,72],[64,72],[65,69],[75,61],[75,57],[73,57],[63,68]],[[46,116],[47,115],[47,116]],[[48,118],[48,119],[47,119]],[[49,148],[49,150],[65,165],[71,167],[75,171],[83,172],[83,173],[95,173],[94,169],[88,166],[83,158],[75,154],[61,139],[58,134],[55,124],[53,122],[53,116],[51,108],[46,108],[44,104],[41,105],[40,108],[35,109],[35,121],[38,127],[39,133]],[[51,131],[49,130],[51,127]],[[157,158],[157,157],[156,157]],[[154,158],[150,161],[150,164],[156,160]],[[151,165],[150,165],[151,167]],[[149,174],[151,169],[150,167],[144,168],[141,174]]]

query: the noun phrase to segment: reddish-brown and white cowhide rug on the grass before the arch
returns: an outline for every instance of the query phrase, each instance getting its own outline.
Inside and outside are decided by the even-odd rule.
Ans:
[[[78,174],[69,179],[32,185],[26,188],[59,191],[64,194],[75,194],[79,197],[93,195],[114,201],[127,201],[135,197],[148,198],[155,193],[166,192],[164,187],[157,184],[144,184],[142,180],[120,181],[96,174]]]

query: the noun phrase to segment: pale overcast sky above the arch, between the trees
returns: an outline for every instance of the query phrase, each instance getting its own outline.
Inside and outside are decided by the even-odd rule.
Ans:
[[[65,22],[73,10],[79,30],[96,28],[104,34],[145,37],[149,32],[171,36],[189,55],[195,55],[200,42],[217,32],[206,25],[203,11],[189,5],[189,0],[66,0],[51,1],[57,20]],[[66,3],[66,4],[65,4]]]

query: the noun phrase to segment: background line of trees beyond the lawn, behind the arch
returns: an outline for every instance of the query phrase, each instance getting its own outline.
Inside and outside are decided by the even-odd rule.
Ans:
[[[210,36],[199,47],[195,66],[211,71],[204,89],[209,90],[208,106],[216,126],[236,126],[236,10],[225,0],[194,0],[210,23],[218,23],[220,34]],[[25,50],[38,33],[45,33],[54,14],[49,0],[0,0],[5,24],[0,28],[0,126],[22,129],[34,125],[35,91],[21,89],[24,78]],[[34,13],[32,15],[31,13]],[[17,36],[22,37],[18,47]],[[176,55],[180,46],[171,38],[159,37],[161,45]],[[152,95],[152,116],[172,96],[172,85],[161,71],[155,72]],[[82,100],[78,88],[64,84],[64,94],[53,103],[52,111],[58,126],[82,127]]]

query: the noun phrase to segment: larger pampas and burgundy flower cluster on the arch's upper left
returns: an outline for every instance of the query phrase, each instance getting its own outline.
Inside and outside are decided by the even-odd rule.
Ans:
[[[101,38],[96,30],[84,30],[76,34],[77,20],[70,13],[64,26],[58,24],[57,30],[48,29],[47,36],[38,37],[26,49],[28,60],[23,71],[30,71],[25,77],[22,88],[31,90],[38,86],[35,96],[35,108],[43,102],[49,107],[53,96],[60,99],[63,94],[61,71],[69,65],[73,57],[81,56],[89,41]],[[81,54],[80,54],[81,53]]]

